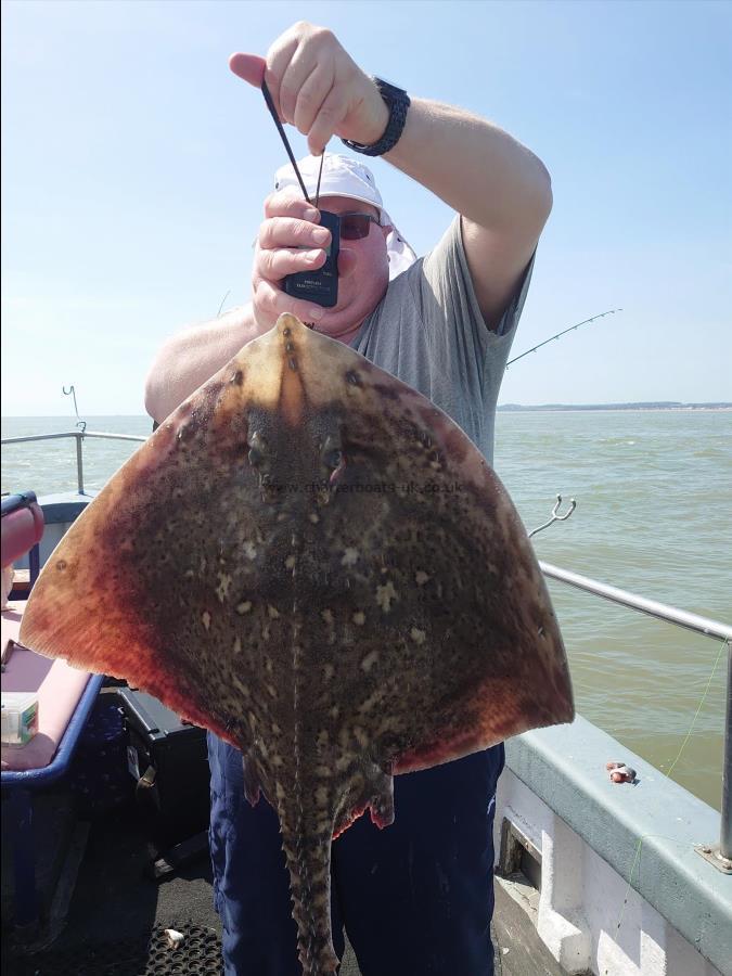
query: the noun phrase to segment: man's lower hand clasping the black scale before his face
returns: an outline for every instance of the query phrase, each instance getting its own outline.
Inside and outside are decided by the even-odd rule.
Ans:
[[[331,240],[328,228],[319,227],[320,214],[292,191],[272,193],[265,201],[265,219],[259,228],[252,273],[252,304],[257,325],[271,329],[283,312],[303,322],[318,322],[323,317],[319,305],[287,295],[282,280],[297,271],[314,271],[325,261]],[[338,255],[338,275],[351,270],[354,257],[344,248]]]

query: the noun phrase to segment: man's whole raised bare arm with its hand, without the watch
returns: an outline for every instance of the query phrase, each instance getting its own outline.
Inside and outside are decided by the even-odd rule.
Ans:
[[[257,88],[266,77],[281,118],[319,154],[333,136],[371,145],[388,110],[373,79],[331,30],[299,22],[267,52],[234,54],[231,69]],[[480,311],[496,328],[552,207],[549,174],[526,146],[486,119],[413,99],[404,130],[385,156],[462,220],[463,243]]]

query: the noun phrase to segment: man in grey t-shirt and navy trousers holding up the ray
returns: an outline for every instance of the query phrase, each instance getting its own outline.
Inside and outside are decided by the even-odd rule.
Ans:
[[[532,255],[551,209],[543,165],[490,123],[406,98],[368,77],[329,31],[298,23],[267,59],[235,54],[262,76],[283,121],[319,156],[333,136],[385,158],[455,211],[424,259],[382,206],[373,175],[328,155],[320,204],[343,220],[338,301],[323,309],[285,294],[282,279],[319,268],[329,232],[284,167],[265,205],[252,305],[166,344],[146,406],[162,422],[283,311],[350,344],[449,413],[492,460],[495,409]],[[304,160],[314,194],[319,159]],[[362,234],[362,235],[361,235]],[[410,265],[411,262],[411,265]],[[389,267],[400,274],[389,273]],[[389,280],[391,279],[391,280]],[[478,567],[476,567],[476,570]],[[244,799],[241,755],[209,736],[211,857],[229,976],[296,976],[295,925],[278,821]],[[492,821],[503,746],[395,780],[396,821],[360,818],[333,845],[333,934],[342,927],[363,976],[489,976],[493,972]]]

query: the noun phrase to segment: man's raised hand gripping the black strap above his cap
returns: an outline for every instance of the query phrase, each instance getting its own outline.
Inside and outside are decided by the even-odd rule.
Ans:
[[[378,89],[325,27],[300,21],[266,59],[232,54],[229,66],[257,88],[265,78],[281,120],[307,136],[313,156],[332,136],[369,145],[386,129],[389,113]]]

